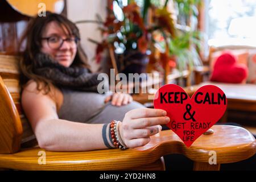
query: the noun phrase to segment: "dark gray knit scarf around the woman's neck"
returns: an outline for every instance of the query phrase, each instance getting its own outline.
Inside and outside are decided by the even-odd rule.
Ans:
[[[64,67],[44,53],[36,55],[35,73],[56,86],[88,92],[97,92],[101,82],[97,80],[99,73],[91,73],[87,68]]]

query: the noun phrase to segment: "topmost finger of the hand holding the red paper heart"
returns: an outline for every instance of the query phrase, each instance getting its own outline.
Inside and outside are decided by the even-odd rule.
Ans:
[[[127,112],[125,115],[130,119],[148,118],[148,117],[161,117],[166,116],[166,111],[162,109],[148,109],[139,108]]]

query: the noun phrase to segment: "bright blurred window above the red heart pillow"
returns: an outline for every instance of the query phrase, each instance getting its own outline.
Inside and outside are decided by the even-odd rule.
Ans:
[[[256,1],[206,0],[206,33],[210,46],[256,46]]]

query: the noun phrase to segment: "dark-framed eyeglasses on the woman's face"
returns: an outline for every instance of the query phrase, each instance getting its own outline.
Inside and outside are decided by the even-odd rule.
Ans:
[[[80,39],[77,37],[63,39],[60,36],[49,36],[47,38],[42,38],[42,40],[47,40],[47,44],[50,48],[59,49],[63,45],[64,41],[67,41],[72,48],[75,48]]]

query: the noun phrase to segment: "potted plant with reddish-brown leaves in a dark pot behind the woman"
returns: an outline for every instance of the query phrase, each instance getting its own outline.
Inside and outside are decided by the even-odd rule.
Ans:
[[[134,1],[127,6],[122,6],[119,1],[114,2],[120,7],[123,16],[118,18],[113,9],[110,10],[100,26],[102,42],[90,39],[97,43],[96,60],[99,63],[102,57],[106,57],[104,53],[110,53],[110,58],[115,59],[118,72],[144,73],[148,61],[152,62],[150,55],[154,53],[158,42],[156,32],[163,32],[166,37],[174,36],[171,14],[166,6],[156,7],[150,0],[145,0],[143,7]],[[114,57],[111,51],[114,51]]]

